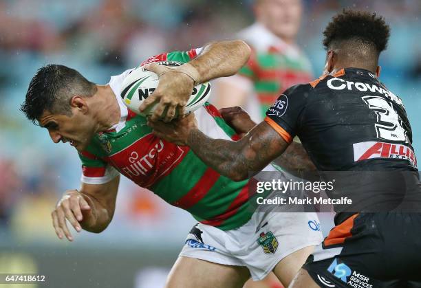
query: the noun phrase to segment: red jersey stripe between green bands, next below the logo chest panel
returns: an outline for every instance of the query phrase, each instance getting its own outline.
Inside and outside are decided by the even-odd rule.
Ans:
[[[206,196],[210,188],[212,188],[220,176],[221,175],[212,168],[207,168],[200,180],[197,181],[196,185],[181,199],[175,201],[173,206],[180,207],[184,210],[191,208]]]

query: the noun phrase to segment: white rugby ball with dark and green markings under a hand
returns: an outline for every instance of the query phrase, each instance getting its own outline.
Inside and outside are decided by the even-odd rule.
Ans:
[[[157,63],[166,66],[180,66],[183,64],[174,61],[162,61]],[[151,104],[147,111],[142,113],[140,113],[139,107],[142,105],[143,101],[151,96],[153,91],[155,91],[156,87],[158,87],[158,82],[159,79],[157,74],[152,71],[145,70],[142,66],[138,67],[133,69],[125,80],[123,80],[120,96],[127,108],[131,111],[143,116],[152,115],[158,105],[158,102]],[[199,107],[208,100],[209,96],[209,82],[195,86],[190,98],[187,101],[186,107],[184,108],[184,113],[188,114],[199,109]],[[175,117],[177,117],[177,115],[175,115]]]

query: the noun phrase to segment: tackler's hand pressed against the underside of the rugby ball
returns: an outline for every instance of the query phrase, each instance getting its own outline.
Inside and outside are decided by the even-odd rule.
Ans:
[[[197,122],[193,113],[169,123],[149,118],[148,125],[151,126],[153,134],[157,137],[179,146],[185,146],[191,129],[197,129]]]

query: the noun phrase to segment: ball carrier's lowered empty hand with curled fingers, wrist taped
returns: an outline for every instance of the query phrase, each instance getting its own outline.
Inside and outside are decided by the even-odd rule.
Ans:
[[[67,190],[51,213],[52,223],[58,238],[63,239],[63,236],[66,236],[69,241],[73,241],[66,220],[72,224],[77,232],[80,232],[82,228],[79,222],[83,221],[83,214],[90,211],[91,207],[78,190]]]

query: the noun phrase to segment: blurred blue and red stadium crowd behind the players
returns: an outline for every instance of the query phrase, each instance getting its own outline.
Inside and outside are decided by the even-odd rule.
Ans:
[[[391,25],[380,80],[404,100],[421,153],[421,2],[303,0],[298,43],[314,78],[325,61],[321,32],[344,7],[376,11]],[[105,84],[149,56],[233,38],[253,21],[252,0],[0,0],[0,244],[59,245],[50,212],[66,189],[78,188],[76,151],[53,144],[19,111],[36,69],[59,63]],[[117,204],[109,229],[82,233],[75,245],[140,247],[166,237],[166,245],[180,248],[194,223],[128,181]]]

